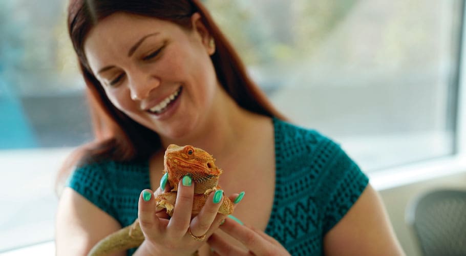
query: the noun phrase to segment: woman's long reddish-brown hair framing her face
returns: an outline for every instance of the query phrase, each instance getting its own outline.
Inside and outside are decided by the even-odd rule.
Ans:
[[[84,55],[84,40],[89,31],[99,20],[116,12],[159,18],[185,29],[192,29],[190,18],[199,13],[216,43],[216,51],[210,58],[223,89],[241,108],[284,119],[247,75],[238,54],[198,0],[71,0],[68,32],[87,85],[95,140],[77,148],[60,173],[76,164],[101,158],[118,161],[147,159],[161,148],[157,133],[132,120],[110,102]]]

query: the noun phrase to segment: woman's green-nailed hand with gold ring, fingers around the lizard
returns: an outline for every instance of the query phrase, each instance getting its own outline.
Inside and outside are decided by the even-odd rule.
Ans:
[[[142,191],[139,197],[138,218],[145,240],[135,255],[190,255],[205,243],[195,240],[194,237],[201,238],[204,234],[206,237],[210,236],[226,218],[225,215],[218,214],[223,196],[214,202],[215,193],[210,193],[199,214],[191,219],[194,184],[190,182],[189,177],[183,180],[178,185],[175,208],[170,220],[164,210],[156,211],[154,197],[162,193],[160,188],[147,201],[143,198],[144,191],[151,194],[152,191]]]

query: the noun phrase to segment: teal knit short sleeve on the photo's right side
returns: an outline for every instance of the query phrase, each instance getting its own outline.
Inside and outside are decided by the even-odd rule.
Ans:
[[[333,159],[329,161],[324,189],[321,191],[321,195],[326,197],[323,211],[324,234],[346,215],[369,183],[368,177],[340,145],[327,140]]]

